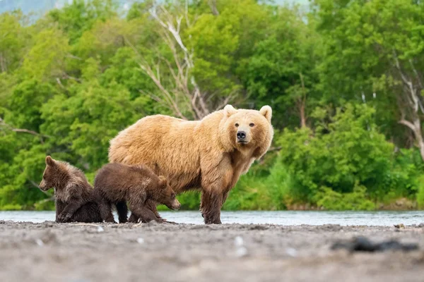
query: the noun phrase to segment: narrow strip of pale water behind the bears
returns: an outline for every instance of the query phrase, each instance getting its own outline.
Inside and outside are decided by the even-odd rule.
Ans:
[[[178,223],[203,223],[200,212],[160,212],[170,221]],[[116,217],[116,215],[115,215]],[[0,220],[12,221],[54,221],[54,212],[0,212]],[[281,225],[322,225],[340,224],[342,226],[392,226],[398,223],[405,225],[424,223],[424,212],[221,212],[223,223],[273,223]]]

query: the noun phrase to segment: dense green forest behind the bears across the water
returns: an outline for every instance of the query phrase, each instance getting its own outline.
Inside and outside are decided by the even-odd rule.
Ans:
[[[0,209],[53,207],[47,154],[92,181],[139,118],[225,104],[269,104],[276,135],[224,209],[424,207],[422,1],[117,5],[0,14]]]

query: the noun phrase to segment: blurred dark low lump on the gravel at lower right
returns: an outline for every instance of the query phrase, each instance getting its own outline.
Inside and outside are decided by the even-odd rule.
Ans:
[[[418,250],[418,244],[400,243],[397,240],[386,240],[380,243],[374,243],[365,237],[353,238],[348,242],[336,242],[331,246],[331,250],[345,249],[349,252],[384,252],[387,250],[401,250],[408,252]]]

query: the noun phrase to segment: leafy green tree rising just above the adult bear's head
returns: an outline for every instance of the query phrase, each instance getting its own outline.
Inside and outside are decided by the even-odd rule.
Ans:
[[[320,98],[314,90],[320,38],[314,19],[307,25],[297,8],[278,8],[273,17],[271,35],[255,45],[242,79],[257,104],[273,106],[279,126],[305,127]]]

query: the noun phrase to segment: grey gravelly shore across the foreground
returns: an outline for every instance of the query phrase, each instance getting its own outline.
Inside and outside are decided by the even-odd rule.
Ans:
[[[331,250],[338,240],[411,252]],[[420,281],[424,227],[0,221],[0,281]]]

